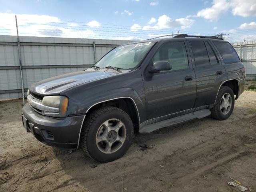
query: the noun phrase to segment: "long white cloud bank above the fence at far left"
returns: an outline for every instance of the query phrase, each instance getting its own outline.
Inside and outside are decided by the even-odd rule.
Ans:
[[[41,37],[67,37],[67,38],[100,38],[100,34],[93,30],[77,30],[78,24],[63,22],[57,17],[35,14],[16,14],[20,36],[41,36]],[[15,14],[0,13],[0,27],[8,35],[16,35]],[[53,23],[60,23],[61,26],[52,26]],[[7,35],[6,34],[6,35]]]

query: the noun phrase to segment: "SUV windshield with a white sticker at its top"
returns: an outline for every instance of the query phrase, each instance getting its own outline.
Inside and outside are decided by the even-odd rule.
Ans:
[[[100,68],[107,66],[121,69],[136,68],[153,45],[154,42],[144,42],[119,46],[106,54],[95,66]]]

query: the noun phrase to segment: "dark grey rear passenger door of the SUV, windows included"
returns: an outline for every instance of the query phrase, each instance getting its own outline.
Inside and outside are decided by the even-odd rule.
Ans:
[[[220,83],[227,80],[226,71],[208,40],[196,38],[188,41],[196,73],[194,108],[205,108],[214,104]]]

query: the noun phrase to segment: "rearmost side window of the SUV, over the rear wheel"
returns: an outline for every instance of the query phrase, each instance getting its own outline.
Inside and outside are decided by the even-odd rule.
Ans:
[[[214,42],[214,44],[218,48],[225,64],[240,61],[236,51],[228,42]]]

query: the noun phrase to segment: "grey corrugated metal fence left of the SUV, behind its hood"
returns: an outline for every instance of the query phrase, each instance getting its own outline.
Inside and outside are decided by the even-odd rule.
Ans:
[[[114,47],[131,41],[20,37],[23,82],[27,88],[48,77],[91,67]],[[16,36],[0,36],[0,100],[21,98]]]

